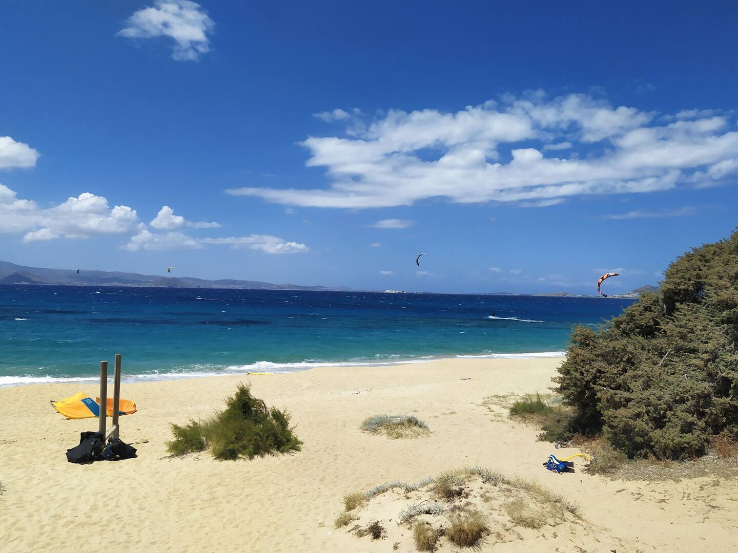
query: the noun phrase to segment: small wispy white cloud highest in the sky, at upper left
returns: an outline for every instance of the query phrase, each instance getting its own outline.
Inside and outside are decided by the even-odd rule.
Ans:
[[[128,27],[117,34],[126,38],[168,37],[174,41],[172,58],[198,60],[210,50],[209,34],[215,23],[190,0],[156,0],[128,18]]]

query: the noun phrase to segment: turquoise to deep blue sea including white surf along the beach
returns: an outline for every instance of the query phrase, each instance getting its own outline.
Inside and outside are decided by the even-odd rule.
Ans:
[[[0,386],[455,356],[562,355],[576,324],[632,299],[472,294],[0,286]]]

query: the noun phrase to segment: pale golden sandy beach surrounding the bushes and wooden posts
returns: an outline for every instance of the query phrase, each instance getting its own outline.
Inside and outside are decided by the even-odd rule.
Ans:
[[[542,467],[555,450],[536,441],[536,428],[483,404],[493,395],[547,392],[560,362],[452,359],[124,382],[123,397],[135,400],[139,411],[122,417],[121,438],[139,457],[93,465],[72,465],[64,453],[80,431],[95,430],[97,420],[64,420],[49,400],[79,391],[94,396],[95,386],[0,389],[0,481],[7,487],[0,497],[0,549],[390,552],[401,535],[402,543],[411,543],[406,528],[393,523],[387,539],[376,541],[334,529],[343,495],[478,465],[561,493],[579,503],[582,515],[579,531],[528,531],[482,550],[735,550],[734,480],[612,481],[582,473],[579,463],[576,473],[556,476]],[[241,381],[292,414],[303,450],[238,462],[216,461],[207,452],[168,457],[170,423],[211,414]],[[392,440],[359,431],[365,417],[385,413],[415,414],[431,434]],[[444,550],[454,549],[446,544]]]

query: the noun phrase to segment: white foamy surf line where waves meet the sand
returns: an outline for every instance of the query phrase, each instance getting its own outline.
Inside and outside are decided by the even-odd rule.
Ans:
[[[565,358],[565,351],[558,352],[521,352],[521,353],[484,353],[479,355],[452,355],[449,357],[419,357],[407,359],[377,359],[376,361],[309,361],[295,363],[279,363],[274,361],[256,361],[246,365],[229,365],[225,366],[221,371],[180,371],[180,372],[156,372],[156,373],[140,373],[125,374],[125,364],[123,371],[123,383],[136,382],[161,382],[165,380],[184,380],[188,378],[208,378],[210,376],[233,376],[248,375],[249,372],[269,372],[270,374],[285,374],[291,372],[304,372],[310,369],[321,369],[328,367],[375,367],[375,366],[401,366],[422,363],[434,363],[436,361],[445,361],[448,359],[549,359],[549,358]],[[38,384],[52,383],[96,383],[100,378],[96,376],[11,376],[0,375],[0,389],[12,388],[15,386],[35,386]]]

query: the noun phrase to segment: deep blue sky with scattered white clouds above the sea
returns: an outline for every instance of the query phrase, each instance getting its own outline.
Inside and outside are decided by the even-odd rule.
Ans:
[[[725,3],[1,10],[1,260],[617,292],[737,226]]]

